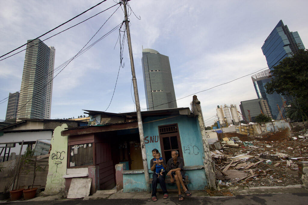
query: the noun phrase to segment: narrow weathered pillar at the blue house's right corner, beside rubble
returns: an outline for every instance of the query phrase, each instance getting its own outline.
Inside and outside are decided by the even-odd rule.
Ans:
[[[213,165],[213,160],[212,156],[210,154],[210,149],[209,149],[209,143],[206,140],[206,134],[205,134],[205,126],[204,126],[204,121],[203,121],[203,116],[201,112],[201,105],[200,101],[198,101],[197,96],[193,96],[193,113],[198,116],[198,121],[199,121],[199,127],[201,131],[201,136],[202,136],[202,143],[203,143],[203,150],[204,150],[204,169],[205,169],[205,175],[209,184],[209,188],[211,190],[216,190],[216,177],[214,173],[214,165]]]

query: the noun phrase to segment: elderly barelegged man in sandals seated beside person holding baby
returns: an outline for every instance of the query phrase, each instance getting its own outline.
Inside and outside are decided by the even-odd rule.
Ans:
[[[191,196],[192,193],[188,191],[188,189],[184,185],[184,176],[185,176],[185,170],[184,170],[184,160],[182,157],[179,157],[179,152],[177,150],[171,151],[171,159],[168,160],[167,163],[167,176],[170,176],[171,182],[176,182],[177,190],[179,191],[179,201],[183,201],[184,198],[182,196],[181,192],[181,185],[183,187],[184,194],[186,196]]]

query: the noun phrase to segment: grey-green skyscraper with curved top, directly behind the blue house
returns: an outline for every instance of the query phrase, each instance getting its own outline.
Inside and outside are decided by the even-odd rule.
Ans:
[[[143,49],[141,61],[148,110],[176,108],[169,57]]]

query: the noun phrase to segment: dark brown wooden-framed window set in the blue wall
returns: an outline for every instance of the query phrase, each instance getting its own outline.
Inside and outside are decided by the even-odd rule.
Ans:
[[[167,163],[171,158],[171,151],[177,150],[183,157],[180,133],[177,124],[158,126],[161,154]]]

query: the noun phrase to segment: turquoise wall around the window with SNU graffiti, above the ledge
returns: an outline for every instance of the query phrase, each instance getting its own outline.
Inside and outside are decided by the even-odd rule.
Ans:
[[[159,120],[166,117],[168,116],[147,117],[144,118],[144,122]],[[161,152],[158,126],[174,123],[178,124],[185,166],[203,165],[202,158],[204,157],[204,152],[198,119],[196,117],[180,115],[165,120],[143,124],[144,141],[149,168],[150,160],[153,158],[152,149],[156,148]],[[169,159],[165,159],[166,162],[168,160]]]

